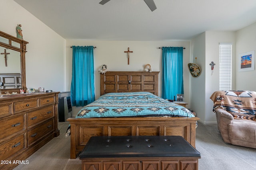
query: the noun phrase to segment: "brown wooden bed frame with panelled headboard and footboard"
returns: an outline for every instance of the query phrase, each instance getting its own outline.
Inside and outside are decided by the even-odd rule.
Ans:
[[[158,73],[106,72],[100,75],[100,94],[146,91],[158,96]],[[92,136],[176,135],[196,147],[197,120],[198,117],[68,118],[70,158],[75,159]]]

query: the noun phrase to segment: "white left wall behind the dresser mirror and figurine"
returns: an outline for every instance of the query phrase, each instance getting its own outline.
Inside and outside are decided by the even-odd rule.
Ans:
[[[66,40],[13,0],[1,0],[0,30],[16,37],[22,24],[26,53],[27,88],[64,90],[64,56]]]

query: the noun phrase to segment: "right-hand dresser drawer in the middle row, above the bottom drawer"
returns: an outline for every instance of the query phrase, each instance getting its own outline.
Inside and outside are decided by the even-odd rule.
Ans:
[[[28,112],[28,128],[30,128],[30,126],[32,126],[40,121],[44,121],[53,116],[54,116],[54,106],[53,105],[44,107],[42,109],[38,109],[35,111]]]

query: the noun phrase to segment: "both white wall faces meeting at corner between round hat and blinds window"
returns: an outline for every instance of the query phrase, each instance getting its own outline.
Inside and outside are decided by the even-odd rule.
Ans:
[[[232,56],[235,59],[236,36],[234,31],[206,31],[194,38],[191,43],[192,62],[197,63],[202,71],[199,77],[191,78],[191,108],[200,118],[200,122],[204,124],[216,123],[210,96],[219,89],[219,43],[232,43]],[[234,59],[233,70],[235,70]],[[213,72],[210,66],[212,61],[216,64]]]

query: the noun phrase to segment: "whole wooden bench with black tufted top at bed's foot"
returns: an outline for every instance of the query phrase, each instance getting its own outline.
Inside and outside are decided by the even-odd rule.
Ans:
[[[200,153],[180,136],[91,137],[82,170],[198,170]]]

